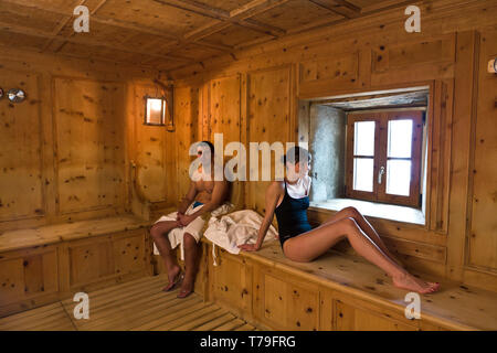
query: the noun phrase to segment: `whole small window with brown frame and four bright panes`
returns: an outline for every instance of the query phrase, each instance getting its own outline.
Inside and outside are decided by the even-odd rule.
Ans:
[[[352,113],[346,196],[420,207],[422,110]]]

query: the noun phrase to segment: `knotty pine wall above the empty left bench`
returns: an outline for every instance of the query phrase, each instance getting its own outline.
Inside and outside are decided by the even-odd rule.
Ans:
[[[0,232],[147,218],[139,196],[176,203],[177,135],[142,125],[157,72],[6,46],[0,60],[0,86],[28,95],[22,104],[0,100]]]

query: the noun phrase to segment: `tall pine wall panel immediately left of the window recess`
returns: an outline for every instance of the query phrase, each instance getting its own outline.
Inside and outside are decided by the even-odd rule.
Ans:
[[[296,142],[293,138],[294,99],[292,67],[271,68],[247,75],[247,145]],[[274,154],[274,153],[273,153]],[[274,157],[272,157],[274,160]],[[260,158],[261,163],[261,158]],[[260,179],[262,178],[260,167]],[[273,176],[274,178],[274,176]],[[247,206],[264,213],[268,182],[248,183]]]

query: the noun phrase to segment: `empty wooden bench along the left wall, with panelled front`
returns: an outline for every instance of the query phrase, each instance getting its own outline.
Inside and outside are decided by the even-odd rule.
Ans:
[[[150,222],[120,215],[0,234],[0,317],[152,274]]]

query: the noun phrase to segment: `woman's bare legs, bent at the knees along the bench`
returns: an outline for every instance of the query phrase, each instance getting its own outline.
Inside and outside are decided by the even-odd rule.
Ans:
[[[429,293],[438,289],[437,284],[424,282],[410,275],[389,258],[351,218],[330,222],[316,229],[285,242],[284,253],[290,260],[308,263],[326,253],[331,246],[346,237],[353,249],[370,263],[377,265],[392,277],[393,285],[403,289]]]

